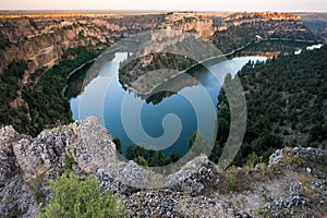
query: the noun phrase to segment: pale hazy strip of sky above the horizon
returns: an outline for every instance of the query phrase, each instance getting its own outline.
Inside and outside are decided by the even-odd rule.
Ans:
[[[316,11],[326,0],[0,0],[0,10]]]

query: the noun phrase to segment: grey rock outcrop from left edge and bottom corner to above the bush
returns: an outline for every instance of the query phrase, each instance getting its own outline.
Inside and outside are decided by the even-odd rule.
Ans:
[[[95,118],[69,126],[45,130],[37,137],[0,130],[0,214],[34,217],[47,196],[49,179],[56,179],[71,161],[80,177],[96,173],[116,162],[110,134]],[[27,213],[26,213],[27,211]]]

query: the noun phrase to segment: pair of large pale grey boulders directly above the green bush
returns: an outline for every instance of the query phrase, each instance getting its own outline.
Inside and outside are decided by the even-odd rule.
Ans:
[[[70,126],[45,130],[36,138],[23,137],[12,145],[16,161],[27,178],[60,172],[64,155],[85,173],[116,161],[111,136],[94,118]]]

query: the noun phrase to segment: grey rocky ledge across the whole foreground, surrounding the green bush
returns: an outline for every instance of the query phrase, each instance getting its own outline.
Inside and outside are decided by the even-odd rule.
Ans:
[[[327,211],[326,160],[326,150],[284,148],[269,166],[220,171],[199,156],[169,175],[164,187],[147,190],[152,173],[120,161],[110,134],[94,118],[45,130],[35,138],[4,126],[0,217],[35,217],[50,197],[49,180],[68,167],[81,179],[94,174],[132,217],[322,217]]]

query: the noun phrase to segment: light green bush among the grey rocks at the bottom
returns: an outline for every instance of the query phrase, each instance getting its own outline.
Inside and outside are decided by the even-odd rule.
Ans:
[[[71,171],[50,183],[52,197],[39,214],[40,218],[56,217],[128,217],[123,205],[109,191],[102,193],[92,175],[80,181]]]

